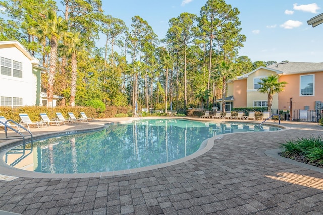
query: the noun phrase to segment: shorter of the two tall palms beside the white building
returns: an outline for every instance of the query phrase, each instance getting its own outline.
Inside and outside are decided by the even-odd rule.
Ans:
[[[82,59],[87,56],[86,40],[81,38],[80,33],[76,32],[72,37],[67,36],[64,38],[66,45],[60,45],[59,48],[65,50],[68,57],[71,58],[71,95],[70,95],[70,106],[75,106],[75,95],[76,95],[76,81],[77,81],[77,58]]]

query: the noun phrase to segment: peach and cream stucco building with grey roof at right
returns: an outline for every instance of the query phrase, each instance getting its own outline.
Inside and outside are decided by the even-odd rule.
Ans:
[[[267,106],[267,94],[258,92],[260,78],[278,75],[286,81],[284,91],[273,97],[272,109],[314,110],[323,102],[323,63],[280,62],[259,67],[228,82],[226,108]],[[227,103],[228,101],[226,101]]]

